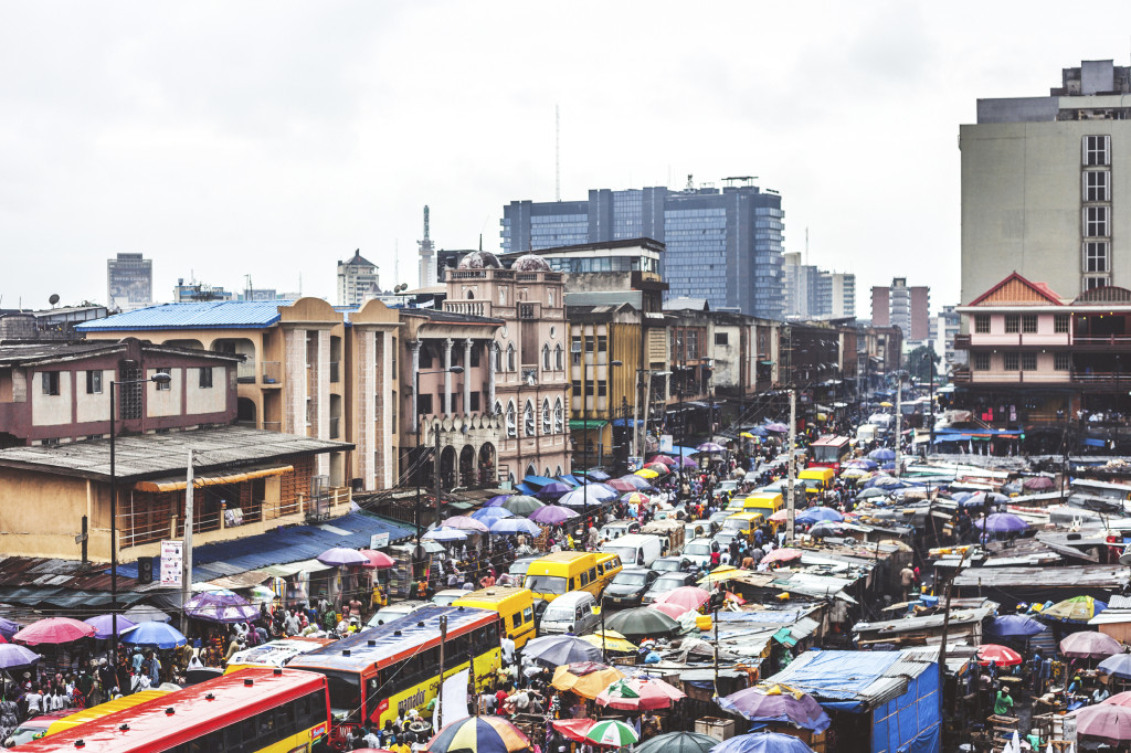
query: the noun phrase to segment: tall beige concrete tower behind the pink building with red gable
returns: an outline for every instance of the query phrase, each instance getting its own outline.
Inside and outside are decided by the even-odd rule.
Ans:
[[[1131,287],[1129,93],[1131,68],[1086,60],[1047,96],[978,99],[959,128],[964,304],[1015,271],[1069,298]]]

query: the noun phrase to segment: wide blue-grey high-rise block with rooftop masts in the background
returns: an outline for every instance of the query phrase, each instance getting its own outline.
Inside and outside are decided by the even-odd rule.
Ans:
[[[650,237],[666,246],[662,272],[670,297],[780,319],[782,197],[751,180],[727,179],[722,190],[601,189],[587,201],[512,201],[503,207],[502,249]]]

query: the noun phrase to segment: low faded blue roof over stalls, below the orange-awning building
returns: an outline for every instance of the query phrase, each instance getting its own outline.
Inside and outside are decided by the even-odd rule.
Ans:
[[[335,546],[364,548],[373,534],[386,533],[390,543],[414,536],[409,528],[364,512],[351,512],[325,523],[291,526],[231,542],[193,546],[192,581],[202,582],[249,570],[313,560]],[[154,572],[161,572],[161,557],[153,560]],[[137,564],[120,563],[118,574],[137,578]]]

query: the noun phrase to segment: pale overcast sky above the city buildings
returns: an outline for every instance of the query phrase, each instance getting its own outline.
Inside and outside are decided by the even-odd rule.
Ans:
[[[786,250],[957,303],[958,126],[1081,59],[1131,3],[3,2],[0,308],[105,302],[105,260],[334,296],[360,248],[416,283],[502,206],[758,175]],[[399,276],[395,249],[399,248]]]

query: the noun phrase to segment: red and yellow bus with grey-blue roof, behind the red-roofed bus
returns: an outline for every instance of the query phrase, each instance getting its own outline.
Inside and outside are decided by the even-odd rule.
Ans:
[[[331,746],[345,747],[349,728],[381,728],[437,696],[442,618],[443,676],[472,667],[476,689],[486,687],[501,665],[501,622],[498,612],[469,606],[426,606],[291,660],[287,668],[318,672],[329,681]]]

